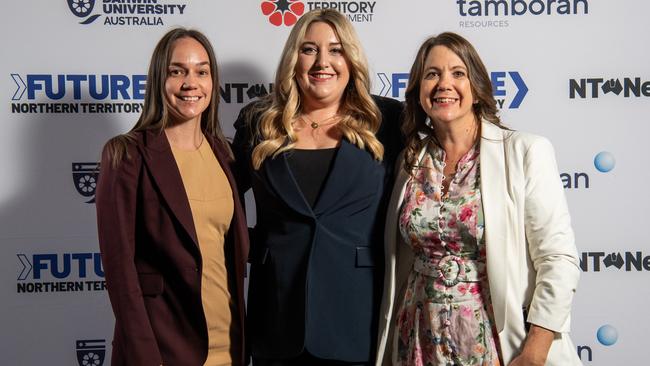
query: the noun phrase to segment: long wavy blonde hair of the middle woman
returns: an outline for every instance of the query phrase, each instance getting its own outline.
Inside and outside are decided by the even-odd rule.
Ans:
[[[300,45],[307,29],[315,22],[324,22],[334,28],[350,66],[350,81],[341,106],[345,116],[337,126],[350,143],[368,150],[377,160],[383,158],[384,147],[375,137],[381,123],[381,113],[370,95],[368,62],[359,37],[343,14],[332,9],[318,9],[303,15],[291,29],[276,71],[273,95],[260,103],[257,109],[261,114],[257,114],[260,115],[260,123],[256,131],[260,142],[253,149],[252,156],[255,169],[259,169],[269,156],[275,157],[295,146],[297,135],[292,122],[301,113],[295,68]]]

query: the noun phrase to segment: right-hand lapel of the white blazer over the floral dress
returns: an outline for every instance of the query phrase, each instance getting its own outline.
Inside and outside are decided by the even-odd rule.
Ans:
[[[508,179],[503,130],[482,122],[480,146],[481,198],[485,216],[485,242],[490,294],[497,330],[503,330],[508,276],[503,269],[508,244]]]

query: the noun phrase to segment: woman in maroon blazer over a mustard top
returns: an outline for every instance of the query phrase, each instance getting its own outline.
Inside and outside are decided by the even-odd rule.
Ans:
[[[246,219],[217,120],[207,38],[156,46],[143,113],[102,153],[97,223],[112,365],[245,365]]]

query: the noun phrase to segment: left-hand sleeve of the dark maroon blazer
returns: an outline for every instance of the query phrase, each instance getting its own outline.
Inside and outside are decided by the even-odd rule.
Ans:
[[[99,247],[108,296],[115,314],[116,341],[129,365],[160,365],[135,266],[136,206],[142,160],[135,148],[118,167],[102,152],[96,207]],[[119,336],[118,336],[119,335]]]

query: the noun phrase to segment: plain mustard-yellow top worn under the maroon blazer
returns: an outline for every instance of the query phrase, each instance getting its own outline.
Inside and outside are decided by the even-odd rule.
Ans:
[[[231,365],[231,332],[233,336],[239,332],[224,253],[234,210],[232,190],[207,142],[194,151],[172,148],[172,152],[192,209],[203,260],[201,300],[208,327],[208,358],[204,365]]]

